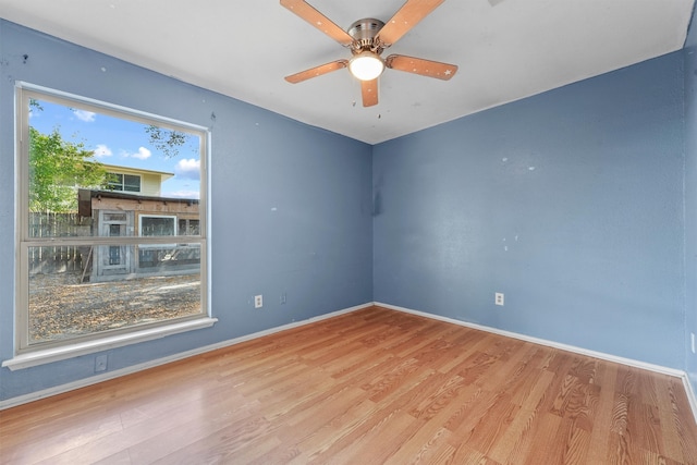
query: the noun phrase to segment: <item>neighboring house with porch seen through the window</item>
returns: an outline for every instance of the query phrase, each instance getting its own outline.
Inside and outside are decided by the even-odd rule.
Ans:
[[[93,220],[95,236],[182,236],[199,234],[198,199],[161,197],[172,173],[106,166],[110,191],[78,191],[78,215]],[[195,273],[200,249],[187,244],[105,245],[82,250],[90,282],[129,276]]]

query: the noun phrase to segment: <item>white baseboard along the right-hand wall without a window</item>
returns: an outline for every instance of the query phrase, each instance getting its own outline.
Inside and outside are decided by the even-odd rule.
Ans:
[[[693,416],[695,417],[695,421],[697,421],[697,396],[695,395],[695,391],[693,390],[693,387],[689,382],[689,378],[687,374],[683,370],[664,367],[662,365],[655,365],[646,362],[635,360],[633,358],[625,358],[616,355],[606,354],[603,352],[590,351],[588,348],[577,347],[575,345],[562,344],[560,342],[548,341],[546,339],[534,338],[530,335],[525,335],[516,332],[491,328],[484,325],[477,325],[477,323],[472,323],[467,321],[456,320],[454,318],[442,317],[440,315],[433,315],[426,311],[413,310],[411,308],[399,307],[396,305],[382,304],[380,302],[375,302],[375,305],[378,307],[389,308],[391,310],[403,311],[405,314],[412,314],[412,315],[418,315],[419,317],[430,318],[439,321],[445,321],[449,323],[458,325],[466,328],[472,328],[480,331],[490,332],[493,334],[504,335],[506,338],[518,339],[521,341],[531,342],[534,344],[546,345],[548,347],[559,348],[566,352],[573,352],[575,354],[599,358],[601,360],[614,362],[614,363],[626,365],[629,367],[641,368],[641,369],[655,371],[661,375],[668,375],[668,376],[680,378],[683,381],[683,386],[685,387],[685,395],[687,396],[687,401],[689,402],[689,406],[692,407]]]

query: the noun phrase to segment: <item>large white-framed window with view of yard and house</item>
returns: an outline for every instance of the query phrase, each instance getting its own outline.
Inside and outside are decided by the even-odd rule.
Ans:
[[[24,83],[16,91],[13,360],[212,325],[208,132]]]

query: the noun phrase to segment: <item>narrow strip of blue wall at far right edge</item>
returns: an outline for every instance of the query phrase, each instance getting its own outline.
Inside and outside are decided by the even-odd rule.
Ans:
[[[697,10],[693,12],[685,57],[685,357],[686,370],[697,392],[697,355],[690,333],[697,336]]]

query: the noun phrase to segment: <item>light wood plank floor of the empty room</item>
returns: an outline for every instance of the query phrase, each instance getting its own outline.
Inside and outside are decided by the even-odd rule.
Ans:
[[[0,421],[3,464],[697,464],[676,378],[381,308]]]

